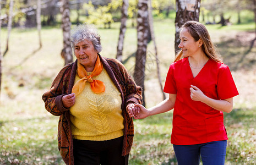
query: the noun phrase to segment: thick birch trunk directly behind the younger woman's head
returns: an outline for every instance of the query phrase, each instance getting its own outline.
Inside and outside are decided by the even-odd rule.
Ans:
[[[179,48],[179,28],[189,20],[199,21],[201,0],[176,0],[176,18],[175,18],[175,53]]]

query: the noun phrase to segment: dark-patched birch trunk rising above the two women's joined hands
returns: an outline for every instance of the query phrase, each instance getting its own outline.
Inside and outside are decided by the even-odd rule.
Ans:
[[[134,80],[137,85],[143,89],[143,105],[145,105],[144,80],[145,80],[145,64],[146,64],[146,47],[148,40],[148,0],[139,0],[138,17],[137,17],[137,53],[134,69]]]

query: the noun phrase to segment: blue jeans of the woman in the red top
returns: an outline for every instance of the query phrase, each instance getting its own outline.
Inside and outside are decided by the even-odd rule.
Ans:
[[[225,164],[226,148],[227,140],[197,145],[173,145],[179,165],[198,165],[200,155],[204,165]]]

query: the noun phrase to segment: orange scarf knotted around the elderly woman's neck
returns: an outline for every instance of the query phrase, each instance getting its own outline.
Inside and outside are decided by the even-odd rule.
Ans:
[[[102,81],[91,79],[93,76],[99,75],[103,69],[103,65],[100,61],[99,56],[97,56],[94,70],[92,71],[91,75],[89,75],[89,76],[87,75],[87,72],[82,64],[80,64],[78,62],[77,65],[78,65],[77,74],[78,74],[80,80],[78,80],[77,83],[75,83],[75,85],[73,86],[72,93],[75,93],[75,95],[79,95],[84,90],[85,83],[87,80],[89,81],[89,83],[91,85],[91,90],[94,93],[99,94],[99,93],[105,91],[105,84]]]

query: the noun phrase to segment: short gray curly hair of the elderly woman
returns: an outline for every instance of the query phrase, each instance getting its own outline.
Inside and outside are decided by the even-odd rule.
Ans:
[[[71,31],[70,40],[73,50],[74,46],[83,40],[91,41],[97,53],[100,53],[102,50],[100,35],[98,34],[96,27],[91,24],[79,24],[75,26]]]

